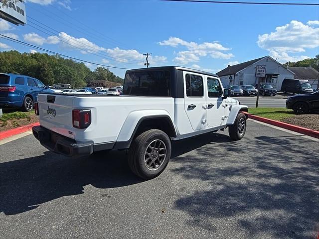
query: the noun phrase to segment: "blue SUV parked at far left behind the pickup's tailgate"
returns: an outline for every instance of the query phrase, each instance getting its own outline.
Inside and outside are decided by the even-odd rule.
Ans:
[[[32,111],[39,93],[50,90],[39,80],[23,75],[0,73],[0,107],[19,107]]]

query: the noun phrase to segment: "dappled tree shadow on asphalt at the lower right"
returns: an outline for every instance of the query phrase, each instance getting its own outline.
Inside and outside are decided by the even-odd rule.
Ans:
[[[315,238],[319,151],[318,142],[309,142],[317,147],[298,136],[257,136],[176,157],[172,172],[207,187],[180,197],[174,208],[198,230],[215,231],[222,223],[245,238]]]

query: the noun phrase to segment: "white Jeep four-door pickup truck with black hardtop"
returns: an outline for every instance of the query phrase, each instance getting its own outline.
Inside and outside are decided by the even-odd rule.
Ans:
[[[141,178],[167,166],[171,140],[229,128],[234,140],[246,131],[247,106],[229,98],[217,75],[184,67],[126,72],[123,95],[39,94],[34,136],[66,156],[128,149],[129,166]]]

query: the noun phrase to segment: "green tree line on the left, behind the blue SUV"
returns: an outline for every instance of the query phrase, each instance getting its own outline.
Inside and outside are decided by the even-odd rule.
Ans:
[[[73,88],[107,86],[108,82],[123,84],[124,81],[105,67],[91,71],[84,63],[59,55],[18,51],[0,52],[0,73],[31,76],[49,86],[57,83],[71,84]]]

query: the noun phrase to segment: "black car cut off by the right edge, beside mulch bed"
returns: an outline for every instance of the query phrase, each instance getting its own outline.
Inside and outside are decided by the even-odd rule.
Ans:
[[[286,100],[286,108],[293,109],[296,114],[319,111],[319,91],[289,97]]]

